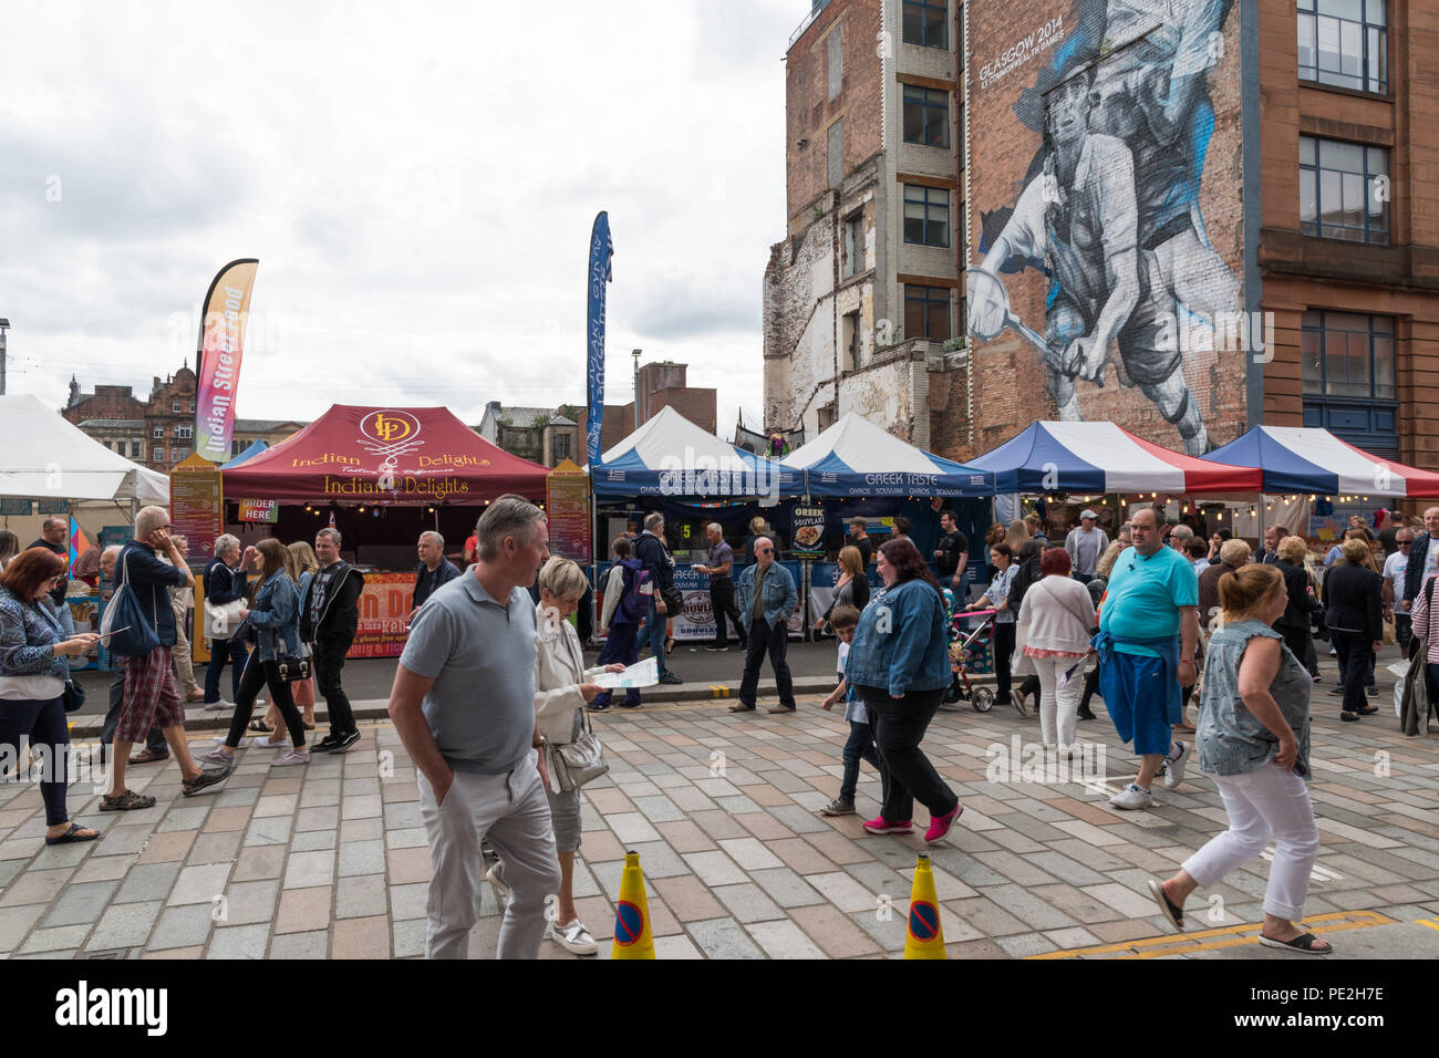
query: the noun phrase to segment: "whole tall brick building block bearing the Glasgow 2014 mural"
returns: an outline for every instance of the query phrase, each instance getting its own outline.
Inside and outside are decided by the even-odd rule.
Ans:
[[[846,145],[836,173],[810,145],[846,104],[843,137],[856,112],[884,115],[889,135],[899,95],[901,147],[915,147],[915,109],[934,96],[914,89],[941,92],[944,75],[920,82],[904,56],[934,7],[964,42],[945,176],[967,348],[950,354],[908,327],[895,345],[863,327],[943,282],[881,252],[895,232],[901,253],[918,252],[931,199],[920,230],[911,184],[938,170],[891,166],[886,138],[878,158]],[[829,35],[845,26],[878,60],[850,62],[842,43],[832,96]],[[833,413],[862,410],[955,458],[1045,417],[1108,419],[1191,452],[1308,425],[1439,465],[1425,415],[1439,386],[1436,46],[1436,0],[816,4],[789,52],[790,239],[766,272],[767,415],[817,426],[835,400]],[[846,220],[871,184],[888,196],[876,214],[899,216],[902,197],[907,223],[873,243],[861,227],[872,309],[861,291],[850,345]],[[905,347],[908,390],[885,360]],[[853,392],[866,369],[868,397]]]

